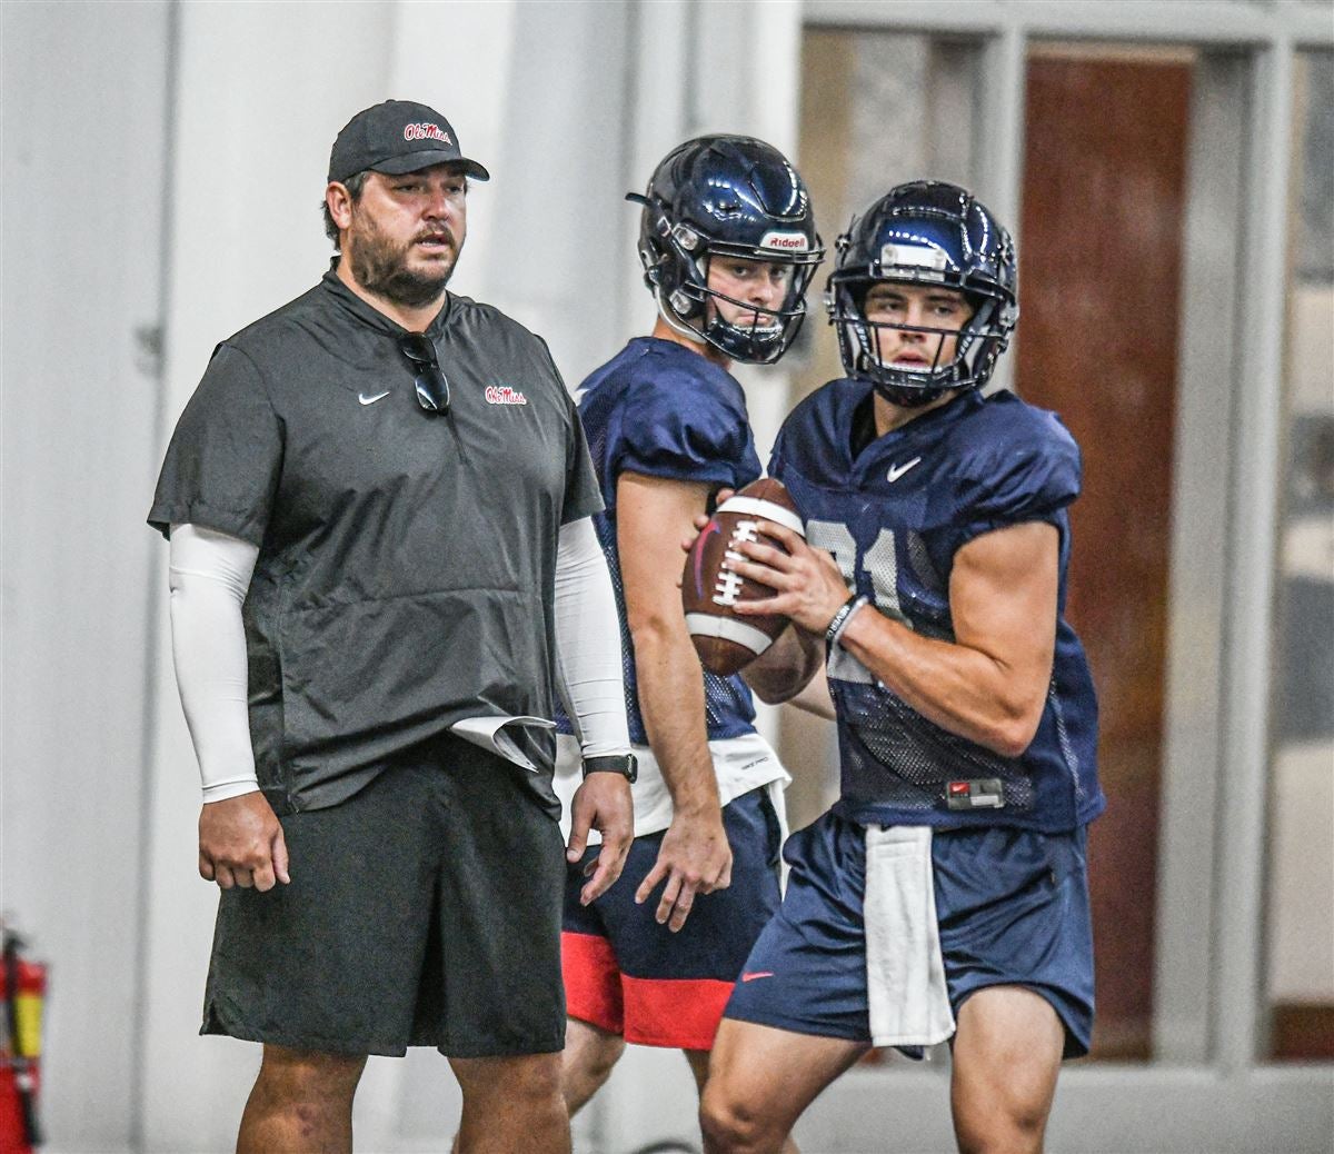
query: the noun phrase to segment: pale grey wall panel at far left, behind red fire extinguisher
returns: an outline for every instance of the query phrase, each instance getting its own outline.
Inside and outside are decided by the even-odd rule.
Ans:
[[[0,7],[4,909],[51,962],[45,1115],[133,1127],[167,9]],[[133,67],[127,67],[133,61]],[[188,816],[179,820],[188,823]]]

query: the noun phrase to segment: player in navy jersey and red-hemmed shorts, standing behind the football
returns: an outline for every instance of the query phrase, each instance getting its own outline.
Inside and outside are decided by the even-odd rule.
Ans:
[[[570,874],[571,1113],[627,1041],[682,1049],[702,1083],[732,982],[778,907],[787,774],[755,731],[740,678],[700,670],[676,542],[720,488],[759,478],[746,398],[727,370],[783,355],[823,256],[806,184],[762,140],[688,140],[627,199],[642,205],[658,319],[578,395],[607,506],[596,526],[618,592],[639,779],[632,881],[584,907],[584,864]],[[562,744],[556,786],[568,792],[578,751]]]

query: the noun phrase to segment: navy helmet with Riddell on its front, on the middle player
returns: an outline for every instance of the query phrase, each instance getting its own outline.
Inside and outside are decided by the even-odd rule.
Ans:
[[[806,319],[806,288],[824,259],[806,184],[787,159],[751,136],[700,136],[674,148],[643,196],[639,259],[658,310],[735,360],[778,360]],[[724,296],[708,287],[712,256],[740,256],[792,265],[776,310]],[[727,322],[711,300],[746,310]]]

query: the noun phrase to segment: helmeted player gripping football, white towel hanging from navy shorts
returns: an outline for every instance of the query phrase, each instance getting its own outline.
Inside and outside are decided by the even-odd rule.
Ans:
[[[783,424],[770,474],[807,540],[743,544],[790,630],[766,699],[827,662],[836,804],[795,834],[782,910],[719,1027],[706,1149],[780,1149],[871,1046],[952,1043],[963,1150],[1039,1150],[1063,1057],[1089,1049],[1085,830],[1103,808],[1097,702],[1066,623],[1079,450],[986,395],[1018,318],[1015,252],[970,192],[891,189],[838,241],[847,376]]]

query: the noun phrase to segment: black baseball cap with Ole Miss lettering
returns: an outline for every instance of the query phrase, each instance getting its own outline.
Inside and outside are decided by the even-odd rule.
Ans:
[[[434,108],[414,100],[386,100],[343,125],[329,152],[329,180],[343,181],[367,168],[400,173],[451,161],[474,180],[491,179],[459,151],[454,128]]]

